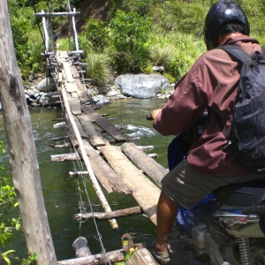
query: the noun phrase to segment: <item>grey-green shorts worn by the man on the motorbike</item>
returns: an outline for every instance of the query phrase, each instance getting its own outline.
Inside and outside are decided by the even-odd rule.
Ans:
[[[215,178],[195,172],[184,160],[163,178],[162,190],[184,208],[193,208],[208,193],[220,186],[263,178],[265,174],[246,175],[233,178]]]

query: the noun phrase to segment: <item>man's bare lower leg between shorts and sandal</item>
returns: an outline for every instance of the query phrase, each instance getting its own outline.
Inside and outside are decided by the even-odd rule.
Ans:
[[[156,212],[156,251],[167,252],[168,237],[177,214],[178,203],[176,201],[170,200],[170,198],[162,191],[159,197]]]

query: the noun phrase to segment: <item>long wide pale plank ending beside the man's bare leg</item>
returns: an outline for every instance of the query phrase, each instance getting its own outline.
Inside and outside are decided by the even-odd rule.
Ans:
[[[129,161],[120,148],[106,146],[98,149],[110,163],[112,169],[124,181],[125,186],[132,190],[133,197],[140,205],[140,208],[156,225],[156,205],[160,196],[160,189],[140,173],[140,170]]]

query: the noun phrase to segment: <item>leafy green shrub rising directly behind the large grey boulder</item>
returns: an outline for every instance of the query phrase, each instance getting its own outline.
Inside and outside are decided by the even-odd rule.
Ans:
[[[118,10],[110,21],[110,34],[117,50],[113,64],[117,72],[140,72],[147,64],[151,19]]]

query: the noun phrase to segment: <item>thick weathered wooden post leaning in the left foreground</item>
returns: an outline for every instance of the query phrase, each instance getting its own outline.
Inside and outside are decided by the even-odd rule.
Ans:
[[[0,53],[3,55],[0,57],[0,99],[27,249],[37,254],[39,265],[54,265],[57,258],[42,197],[31,117],[19,75],[6,0],[0,1],[0,25]]]

